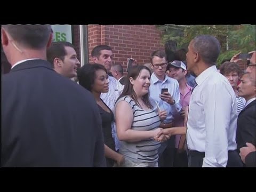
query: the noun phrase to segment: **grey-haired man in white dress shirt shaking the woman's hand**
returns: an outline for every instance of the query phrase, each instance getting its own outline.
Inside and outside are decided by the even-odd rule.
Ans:
[[[236,152],[236,95],[215,66],[220,48],[210,35],[197,36],[188,46],[187,68],[197,76],[187,123],[188,166],[242,166]]]

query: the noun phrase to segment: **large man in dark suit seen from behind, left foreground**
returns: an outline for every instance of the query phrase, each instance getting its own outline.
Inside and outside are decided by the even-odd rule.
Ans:
[[[92,94],[46,61],[50,25],[3,25],[2,166],[106,166]]]

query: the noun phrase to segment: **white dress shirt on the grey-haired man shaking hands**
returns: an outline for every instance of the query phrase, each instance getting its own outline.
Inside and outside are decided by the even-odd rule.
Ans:
[[[226,167],[228,150],[236,149],[236,95],[216,66],[196,78],[190,97],[187,143],[205,152],[203,167]]]

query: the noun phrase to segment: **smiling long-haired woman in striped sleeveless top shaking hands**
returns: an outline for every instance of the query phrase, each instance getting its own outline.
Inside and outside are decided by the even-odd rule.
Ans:
[[[150,75],[145,66],[133,67],[115,104],[119,153],[124,155],[125,167],[158,167],[160,143],[154,137],[162,130],[159,125],[167,112],[156,113],[149,102]]]

